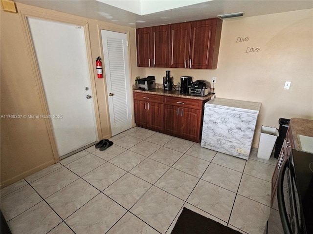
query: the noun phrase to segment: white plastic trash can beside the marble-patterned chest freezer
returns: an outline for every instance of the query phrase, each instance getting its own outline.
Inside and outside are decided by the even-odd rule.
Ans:
[[[279,133],[276,128],[261,125],[261,136],[257,154],[258,158],[269,159],[278,136]]]

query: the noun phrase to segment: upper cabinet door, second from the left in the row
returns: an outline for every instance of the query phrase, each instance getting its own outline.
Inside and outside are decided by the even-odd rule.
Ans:
[[[152,28],[152,67],[168,67],[170,52],[170,25]]]

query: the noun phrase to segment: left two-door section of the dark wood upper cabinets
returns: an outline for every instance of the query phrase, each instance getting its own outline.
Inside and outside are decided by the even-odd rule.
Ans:
[[[168,67],[170,25],[136,29],[137,66]]]

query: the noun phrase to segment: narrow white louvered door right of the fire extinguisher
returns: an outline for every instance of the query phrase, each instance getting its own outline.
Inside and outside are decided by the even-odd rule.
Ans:
[[[132,127],[127,35],[101,30],[112,136]]]

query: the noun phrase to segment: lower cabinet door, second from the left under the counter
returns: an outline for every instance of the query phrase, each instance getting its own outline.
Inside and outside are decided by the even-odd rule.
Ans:
[[[148,124],[155,130],[163,129],[163,104],[148,102]]]

